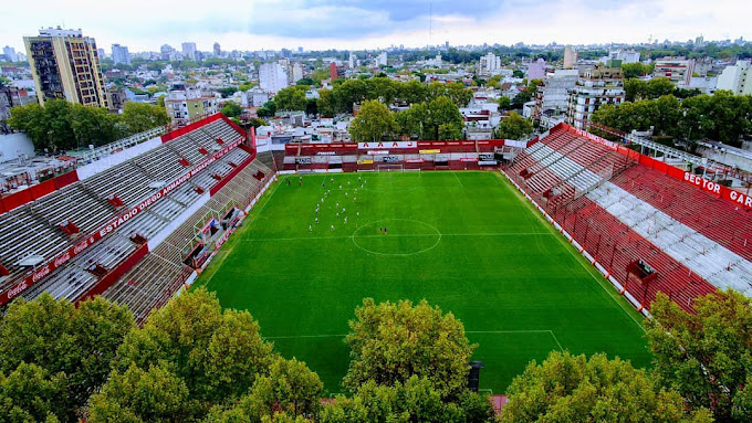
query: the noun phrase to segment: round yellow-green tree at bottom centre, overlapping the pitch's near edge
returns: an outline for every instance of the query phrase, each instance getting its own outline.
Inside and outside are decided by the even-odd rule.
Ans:
[[[369,380],[379,385],[405,383],[411,376],[428,379],[445,399],[467,391],[468,362],[476,348],[451,313],[425,300],[376,305],[363,300],[349,321],[345,342],[351,362],[343,387],[356,392]]]

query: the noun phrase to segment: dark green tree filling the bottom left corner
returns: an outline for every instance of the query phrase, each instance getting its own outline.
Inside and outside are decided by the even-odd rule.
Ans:
[[[79,307],[49,294],[11,303],[0,321],[0,374],[7,376],[0,376],[0,403],[10,401],[36,420],[46,413],[76,420],[133,327],[126,307],[100,297]]]

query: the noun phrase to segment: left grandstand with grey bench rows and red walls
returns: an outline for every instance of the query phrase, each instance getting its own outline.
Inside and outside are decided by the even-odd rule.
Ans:
[[[104,294],[145,318],[196,276],[195,226],[242,214],[274,176],[265,163],[218,114],[2,198],[0,305]]]

